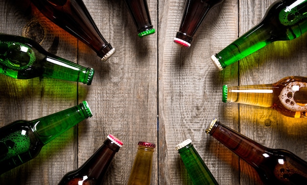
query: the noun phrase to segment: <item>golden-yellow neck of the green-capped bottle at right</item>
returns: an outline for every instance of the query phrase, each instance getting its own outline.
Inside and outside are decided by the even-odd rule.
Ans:
[[[255,105],[260,107],[272,107],[274,104],[275,91],[278,87],[272,84],[248,85],[248,86],[226,86],[226,101]],[[279,94],[277,94],[278,96]]]

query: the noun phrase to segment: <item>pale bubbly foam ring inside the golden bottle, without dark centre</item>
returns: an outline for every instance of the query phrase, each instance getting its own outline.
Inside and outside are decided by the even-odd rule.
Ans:
[[[278,96],[281,104],[288,110],[293,112],[305,112],[307,111],[307,106],[299,105],[294,100],[295,92],[299,91],[300,88],[307,87],[306,82],[291,82],[286,85],[282,90],[281,94]]]

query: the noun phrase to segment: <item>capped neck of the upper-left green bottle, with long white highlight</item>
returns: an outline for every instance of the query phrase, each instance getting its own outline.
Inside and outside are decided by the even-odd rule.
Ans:
[[[44,70],[42,75],[45,77],[82,82],[87,85],[91,85],[94,76],[94,69],[82,67],[50,53],[42,67]]]

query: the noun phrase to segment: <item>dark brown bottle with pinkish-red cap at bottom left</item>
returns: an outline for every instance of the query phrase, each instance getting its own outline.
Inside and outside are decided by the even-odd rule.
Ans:
[[[123,143],[108,135],[102,146],[79,168],[64,175],[58,185],[102,185],[102,178]]]

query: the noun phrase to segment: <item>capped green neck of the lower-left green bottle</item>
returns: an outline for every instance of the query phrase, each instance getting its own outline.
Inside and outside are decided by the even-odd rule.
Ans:
[[[32,120],[30,123],[37,138],[47,144],[89,116],[91,115],[86,111],[84,105],[79,104],[61,112]]]

